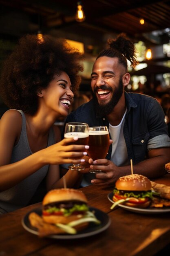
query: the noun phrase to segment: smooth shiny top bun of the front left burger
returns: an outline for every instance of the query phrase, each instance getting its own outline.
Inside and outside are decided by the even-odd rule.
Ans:
[[[43,201],[42,205],[51,204],[53,202],[62,202],[62,201],[70,201],[77,200],[81,202],[87,203],[87,198],[79,190],[76,189],[53,189],[49,191]]]

